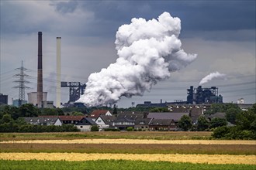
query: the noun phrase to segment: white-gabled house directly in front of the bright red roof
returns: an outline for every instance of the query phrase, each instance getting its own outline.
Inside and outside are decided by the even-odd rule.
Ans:
[[[116,120],[115,116],[107,116],[105,114],[99,115],[95,123],[99,125],[99,131],[105,128],[113,128],[112,124]]]

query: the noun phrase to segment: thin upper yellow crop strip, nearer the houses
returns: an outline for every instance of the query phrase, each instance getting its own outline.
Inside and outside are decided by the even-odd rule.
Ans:
[[[182,144],[182,145],[256,145],[246,140],[145,140],[145,139],[73,139],[73,140],[25,140],[1,141],[0,143],[33,144]]]

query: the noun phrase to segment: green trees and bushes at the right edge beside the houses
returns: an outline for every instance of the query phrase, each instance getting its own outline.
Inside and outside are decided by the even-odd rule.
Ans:
[[[206,118],[209,114],[222,111],[226,118]],[[231,123],[227,126],[228,121]],[[223,139],[256,139],[256,104],[248,110],[240,110],[236,104],[213,104],[206,115],[199,117],[197,124],[191,118],[182,116],[178,128],[183,131],[213,131],[213,138]]]

